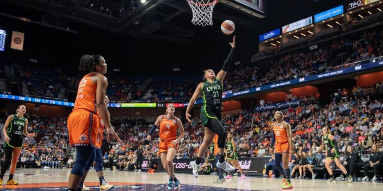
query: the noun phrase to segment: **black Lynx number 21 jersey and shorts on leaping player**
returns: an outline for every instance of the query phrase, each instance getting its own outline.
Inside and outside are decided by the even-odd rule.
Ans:
[[[217,78],[213,83],[209,83],[209,81],[203,83],[203,105],[200,115],[202,125],[205,125],[209,119],[221,120],[222,90],[221,82]]]

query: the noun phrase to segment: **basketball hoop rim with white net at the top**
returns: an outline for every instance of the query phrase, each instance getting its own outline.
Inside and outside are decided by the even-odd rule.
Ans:
[[[193,19],[195,25],[213,25],[213,9],[219,0],[186,0],[192,8]]]

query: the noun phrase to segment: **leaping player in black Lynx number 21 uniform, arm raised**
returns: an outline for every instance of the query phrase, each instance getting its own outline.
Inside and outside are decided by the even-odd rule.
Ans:
[[[232,172],[235,170],[234,167],[225,161],[224,148],[226,131],[220,122],[223,81],[234,54],[235,36],[233,37],[233,42],[229,44],[231,45],[231,51],[225,61],[225,64],[222,66],[221,71],[217,74],[217,76],[211,69],[204,71],[204,78],[206,81],[198,85],[186,109],[186,120],[191,123],[190,117],[192,116],[189,114],[189,112],[192,110],[194,103],[202,92],[203,105],[201,107],[200,118],[205,129],[205,137],[203,143],[200,146],[197,160],[190,162],[190,165],[193,168],[193,174],[196,178],[198,177],[198,168],[201,165],[202,157],[213,141],[215,134],[218,134],[218,148],[220,154],[220,159],[217,162],[217,167],[227,172]]]

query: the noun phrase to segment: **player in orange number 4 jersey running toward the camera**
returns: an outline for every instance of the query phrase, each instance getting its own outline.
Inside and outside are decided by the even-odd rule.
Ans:
[[[173,103],[170,103],[166,107],[166,115],[159,116],[148,135],[148,140],[151,139],[150,134],[156,129],[156,126],[160,126],[159,132],[159,152],[161,153],[161,162],[163,168],[169,174],[169,183],[166,186],[166,190],[171,190],[174,184],[174,190],[178,190],[181,187],[181,182],[176,178],[174,174],[173,159],[177,154],[178,143],[185,135],[183,125],[180,119],[174,116],[175,107]],[[180,130],[180,134],[177,138],[177,128]]]

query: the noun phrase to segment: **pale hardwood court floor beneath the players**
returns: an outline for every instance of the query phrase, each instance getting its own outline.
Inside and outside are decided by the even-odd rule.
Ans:
[[[0,190],[66,190],[69,173],[69,169],[17,170],[14,179],[19,182],[19,185],[1,185]],[[169,180],[165,173],[105,171],[104,175],[107,181],[116,185],[114,188],[116,191],[165,190],[164,185]],[[177,178],[182,183],[180,190],[281,190],[281,179],[247,177],[240,180],[233,177],[233,179],[228,179],[224,183],[217,183],[218,176],[200,175],[197,179],[192,174],[177,174]],[[4,176],[4,179],[3,183],[8,180],[8,174]],[[292,182],[293,190],[304,191],[381,191],[383,189],[383,183],[377,182],[325,182],[323,179],[293,179]],[[99,190],[98,177],[94,170],[89,172],[85,185],[90,187],[90,190]]]

